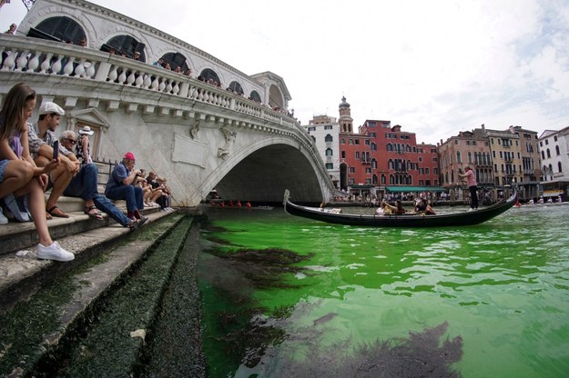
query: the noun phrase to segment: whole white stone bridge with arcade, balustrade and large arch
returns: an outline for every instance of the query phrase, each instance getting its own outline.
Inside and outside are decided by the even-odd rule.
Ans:
[[[57,33],[63,24],[72,35]],[[64,43],[67,37],[74,43]],[[123,46],[142,52],[143,61],[128,57],[132,50],[127,57],[108,52]],[[30,85],[36,111],[45,101],[66,110],[57,132],[89,125],[95,160],[132,151],[137,167],[168,178],[178,205],[196,205],[214,188],[241,201],[276,203],[286,188],[299,202],[330,200],[329,175],[290,116],[278,75],[245,75],[151,26],[77,0],[36,1],[18,34],[0,35],[0,50],[0,95]],[[205,80],[153,65],[160,57]]]

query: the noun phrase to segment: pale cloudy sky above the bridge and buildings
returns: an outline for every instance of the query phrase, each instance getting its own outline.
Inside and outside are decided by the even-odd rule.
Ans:
[[[285,81],[301,124],[391,121],[418,143],[569,126],[569,0],[93,0],[254,75]],[[0,28],[19,23],[19,0]]]

